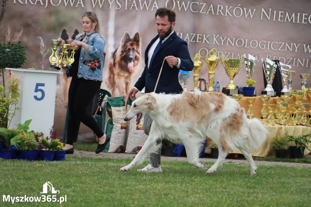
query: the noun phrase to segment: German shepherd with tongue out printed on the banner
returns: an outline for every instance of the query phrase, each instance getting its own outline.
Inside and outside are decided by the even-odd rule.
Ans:
[[[112,97],[116,97],[116,89],[118,88],[120,96],[126,98],[140,57],[141,39],[139,32],[136,32],[133,38],[128,32],[125,32],[120,45],[111,53],[109,58],[106,85],[111,89]]]

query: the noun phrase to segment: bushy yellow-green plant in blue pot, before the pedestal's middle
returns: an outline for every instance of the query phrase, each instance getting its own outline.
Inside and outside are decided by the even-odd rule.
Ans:
[[[21,150],[22,159],[36,160],[38,157],[38,142],[35,140],[34,134],[18,130],[20,134],[17,136],[18,149]]]

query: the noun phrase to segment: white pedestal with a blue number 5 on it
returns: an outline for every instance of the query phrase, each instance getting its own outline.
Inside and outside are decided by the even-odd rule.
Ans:
[[[57,74],[62,72],[16,69],[12,70],[14,76],[21,78],[19,89],[21,96],[16,112],[12,118],[9,128],[16,128],[19,123],[32,119],[29,130],[42,132],[44,137],[50,135],[50,129],[54,124],[54,109],[56,95]]]

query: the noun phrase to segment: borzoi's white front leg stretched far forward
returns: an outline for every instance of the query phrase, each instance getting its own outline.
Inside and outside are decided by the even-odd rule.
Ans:
[[[128,164],[127,166],[120,168],[120,170],[125,172],[125,171],[132,169],[132,167],[134,167],[135,165],[142,163],[149,153],[155,152],[155,151],[157,151],[157,149],[159,150],[160,146],[155,145],[156,140],[157,140],[157,138],[155,139],[155,138],[153,138],[153,136],[149,135],[145,144],[142,146],[142,149],[139,150],[139,152],[137,153],[135,158],[132,160],[132,162],[130,164]]]

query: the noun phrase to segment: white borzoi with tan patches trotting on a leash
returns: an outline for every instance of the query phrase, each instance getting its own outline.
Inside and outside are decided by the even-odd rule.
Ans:
[[[199,149],[209,137],[218,146],[219,155],[206,173],[215,172],[227,152],[238,148],[250,165],[251,175],[256,175],[257,167],[250,153],[266,140],[268,130],[258,119],[248,119],[244,108],[234,99],[223,93],[199,90],[176,95],[144,94],[132,103],[124,120],[131,120],[137,115],[138,124],[145,113],[153,120],[149,137],[133,161],[121,171],[130,170],[142,163],[148,154],[159,152],[161,145],[156,145],[159,138],[182,142],[188,162],[197,168],[207,169],[199,163]]]

